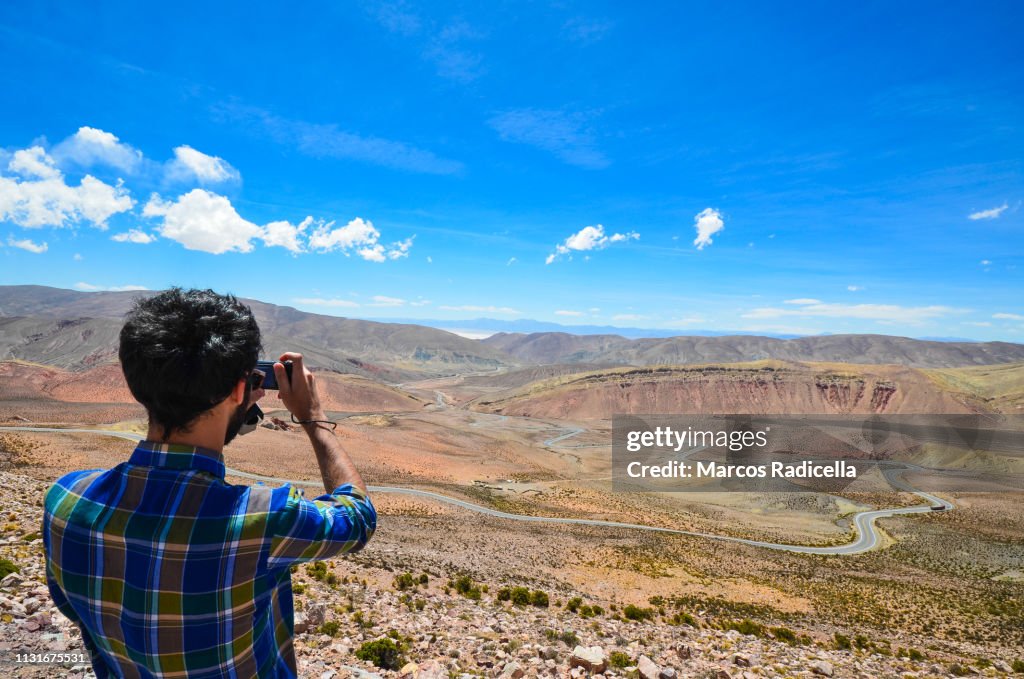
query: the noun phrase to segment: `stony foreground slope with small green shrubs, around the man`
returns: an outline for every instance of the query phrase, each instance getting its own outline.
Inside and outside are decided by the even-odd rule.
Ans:
[[[55,609],[44,585],[38,531],[46,485],[0,472],[0,559],[17,568],[0,580],[0,673],[92,676],[86,664],[56,669],[16,662],[19,652],[82,652],[78,631]],[[879,644],[858,648],[856,638],[844,642],[842,635],[812,639],[751,621],[726,624],[699,610],[666,614],[657,600],[650,607],[614,606],[582,592],[579,598],[571,592],[549,595],[438,569],[406,571],[381,556],[296,569],[301,676],[870,679],[1024,670],[1020,649],[956,660]]]

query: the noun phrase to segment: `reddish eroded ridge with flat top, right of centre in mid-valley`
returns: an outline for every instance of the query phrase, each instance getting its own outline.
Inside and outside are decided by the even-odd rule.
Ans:
[[[503,415],[567,420],[645,413],[976,413],[972,394],[896,366],[775,360],[620,368],[542,380],[471,406]]]

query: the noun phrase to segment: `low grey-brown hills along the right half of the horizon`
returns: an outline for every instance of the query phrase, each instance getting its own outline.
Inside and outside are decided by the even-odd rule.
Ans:
[[[821,335],[790,340],[753,335],[630,340],[616,335],[499,333],[482,342],[521,360],[542,364],[683,366],[774,358],[955,368],[1024,360],[1024,344],[935,342],[888,335]]]

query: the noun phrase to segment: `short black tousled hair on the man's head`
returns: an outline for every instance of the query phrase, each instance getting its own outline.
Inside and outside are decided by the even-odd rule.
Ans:
[[[252,309],[233,296],[171,288],[136,300],[118,353],[128,388],[167,440],[226,398],[260,348]]]

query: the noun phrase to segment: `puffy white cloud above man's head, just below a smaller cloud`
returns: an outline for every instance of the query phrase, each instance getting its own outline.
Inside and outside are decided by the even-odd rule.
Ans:
[[[161,217],[160,235],[177,241],[187,250],[215,255],[225,252],[251,252],[252,240],[263,229],[243,219],[223,196],[194,188],[176,201],[164,201],[154,194],[142,209],[146,217]]]

